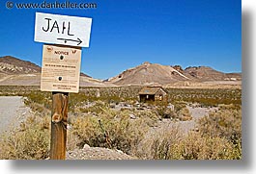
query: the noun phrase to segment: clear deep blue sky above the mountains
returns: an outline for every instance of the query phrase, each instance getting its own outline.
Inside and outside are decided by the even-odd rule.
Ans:
[[[70,0],[97,3],[97,9],[87,10],[7,9],[8,1],[0,1],[0,57],[41,65],[35,13],[47,12],[93,18],[81,70],[94,78],[107,79],[142,62],[242,71],[241,0]]]

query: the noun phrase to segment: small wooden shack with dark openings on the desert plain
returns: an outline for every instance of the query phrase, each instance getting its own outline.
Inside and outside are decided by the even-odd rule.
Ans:
[[[140,102],[167,101],[167,91],[162,87],[143,87],[139,91]]]

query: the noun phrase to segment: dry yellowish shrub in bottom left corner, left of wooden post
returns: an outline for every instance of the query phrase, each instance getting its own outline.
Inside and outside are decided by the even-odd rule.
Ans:
[[[0,140],[0,159],[42,160],[48,157],[49,130],[36,116],[30,116],[19,129],[5,133]],[[49,123],[49,120],[47,120]]]

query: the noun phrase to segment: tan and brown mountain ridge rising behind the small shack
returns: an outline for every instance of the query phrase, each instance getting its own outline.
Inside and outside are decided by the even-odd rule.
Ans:
[[[108,79],[108,82],[115,85],[166,85],[180,81],[230,80],[241,80],[241,74],[227,74],[207,66],[187,67],[184,70],[180,65],[170,66],[144,62]]]

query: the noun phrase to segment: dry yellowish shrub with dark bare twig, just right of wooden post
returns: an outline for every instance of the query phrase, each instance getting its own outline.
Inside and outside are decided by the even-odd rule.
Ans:
[[[107,144],[104,138],[99,119],[110,137],[110,144]],[[80,142],[77,144],[79,147],[88,144],[96,147],[116,148],[130,154],[131,146],[139,137],[139,132],[131,130],[130,122],[126,118],[118,121],[107,120],[103,117],[81,117],[73,122],[71,133],[79,137]]]

